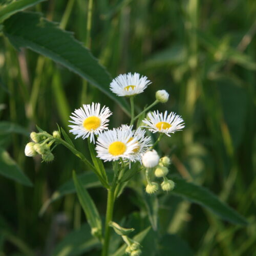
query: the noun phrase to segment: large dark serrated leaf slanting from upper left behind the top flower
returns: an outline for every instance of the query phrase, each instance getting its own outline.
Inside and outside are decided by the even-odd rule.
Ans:
[[[38,13],[20,12],[5,21],[4,34],[17,49],[29,48],[87,79],[130,115],[127,102],[110,91],[109,73],[72,33],[61,30]]]

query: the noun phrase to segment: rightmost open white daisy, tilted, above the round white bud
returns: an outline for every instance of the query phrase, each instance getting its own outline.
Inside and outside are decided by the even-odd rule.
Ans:
[[[147,126],[142,127],[148,128],[153,133],[165,133],[167,136],[170,136],[169,133],[175,133],[185,127],[184,121],[180,116],[174,112],[167,114],[167,111],[164,113],[159,113],[158,111],[148,113],[147,119],[142,121]]]

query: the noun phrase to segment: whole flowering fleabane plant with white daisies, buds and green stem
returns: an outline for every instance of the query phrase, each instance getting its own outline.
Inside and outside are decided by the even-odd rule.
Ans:
[[[130,124],[120,124],[119,127],[109,128],[109,118],[113,114],[106,106],[100,103],[83,104],[75,110],[70,118],[70,133],[75,135],[75,139],[87,139],[92,162],[82,153],[76,150],[73,142],[63,129],[58,127],[58,131],[49,134],[39,129],[38,133],[32,132],[29,142],[25,147],[25,155],[34,157],[41,155],[42,161],[50,162],[54,159],[52,153],[55,146],[62,144],[69,148],[97,175],[101,185],[108,191],[108,202],[106,207],[105,225],[102,228],[101,219],[97,208],[90,195],[82,187],[81,181],[73,173],[73,179],[81,205],[87,215],[93,236],[102,243],[102,256],[108,255],[110,243],[110,229],[113,228],[127,245],[126,253],[130,255],[140,255],[141,246],[139,242],[133,241],[128,234],[133,231],[123,228],[114,223],[113,209],[116,198],[121,194],[127,181],[141,172],[145,180],[145,193],[154,194],[157,190],[170,191],[174,189],[174,182],[168,180],[169,158],[161,158],[154,150],[163,134],[170,136],[170,133],[180,131],[184,127],[183,119],[175,113],[167,114],[154,112],[148,113],[148,120],[143,120],[144,126],[136,126],[135,121],[142,114],[149,111],[158,102],[166,102],[169,94],[164,91],[156,93],[156,101],[148,108],[135,116],[134,98],[142,93],[151,81],[145,76],[135,74],[119,75],[110,84],[110,90],[118,96],[129,97],[131,102],[131,122]],[[148,136],[150,132],[158,133],[159,137],[154,142]],[[61,138],[61,134],[64,139]],[[106,173],[103,162],[113,163],[113,179],[110,181]],[[154,177],[162,178],[162,183],[154,181]],[[125,179],[124,179],[125,178]],[[125,182],[124,182],[125,181]]]

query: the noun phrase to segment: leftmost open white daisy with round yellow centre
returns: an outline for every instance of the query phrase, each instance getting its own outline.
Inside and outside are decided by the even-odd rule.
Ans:
[[[100,134],[104,130],[108,130],[108,122],[112,112],[108,107],[103,106],[100,109],[100,103],[83,104],[82,108],[75,110],[72,113],[69,122],[74,125],[69,125],[72,129],[70,133],[76,135],[76,138],[82,139],[90,136],[90,141],[95,143],[94,135]]]

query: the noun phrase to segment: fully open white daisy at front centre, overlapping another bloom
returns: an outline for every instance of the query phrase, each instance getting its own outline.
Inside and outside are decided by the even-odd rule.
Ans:
[[[116,161],[120,158],[135,161],[132,154],[138,143],[132,136],[131,130],[122,127],[101,133],[96,142],[97,157],[104,161]]]

